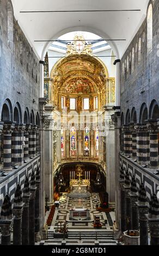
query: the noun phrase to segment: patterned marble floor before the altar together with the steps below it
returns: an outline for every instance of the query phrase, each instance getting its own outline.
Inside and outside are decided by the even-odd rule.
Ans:
[[[97,211],[96,205],[99,204],[100,198],[97,193],[91,193],[90,197],[86,198],[71,198],[68,193],[63,193],[59,199],[59,208],[56,208],[54,212],[51,227],[48,228],[48,240],[36,243],[36,245],[117,245],[112,238],[115,212]],[[114,208],[114,205],[112,207]],[[65,221],[70,209],[74,208],[89,209],[94,220],[96,215],[100,216],[102,228],[94,228],[93,222],[68,222],[69,237],[64,240],[54,238],[53,233],[58,227],[58,222]],[[79,234],[81,234],[80,239]]]

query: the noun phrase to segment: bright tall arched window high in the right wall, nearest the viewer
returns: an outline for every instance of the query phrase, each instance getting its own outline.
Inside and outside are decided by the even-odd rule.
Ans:
[[[149,5],[147,15],[147,47],[149,54],[152,51],[152,4]]]

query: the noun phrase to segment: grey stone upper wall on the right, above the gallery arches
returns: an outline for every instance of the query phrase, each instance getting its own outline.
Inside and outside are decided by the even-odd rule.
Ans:
[[[142,104],[145,102],[148,108],[151,101],[155,99],[157,103],[158,97],[158,40],[159,40],[159,21],[158,21],[158,1],[150,1],[152,4],[152,51],[148,53],[147,49],[147,19],[140,26],[137,34],[134,36],[129,47],[127,47],[124,56],[121,58],[121,112],[126,115],[127,109],[132,110],[136,107],[139,122],[139,112]],[[149,5],[148,5],[149,7]],[[141,38],[141,59],[138,61],[138,43]],[[132,72],[132,49],[134,48],[134,71]],[[131,56],[130,56],[131,54]],[[129,69],[127,66],[127,57],[129,57]],[[124,66],[124,70],[123,70]],[[130,74],[131,66],[131,74]],[[126,74],[125,74],[126,72]],[[126,76],[126,77],[125,77]]]

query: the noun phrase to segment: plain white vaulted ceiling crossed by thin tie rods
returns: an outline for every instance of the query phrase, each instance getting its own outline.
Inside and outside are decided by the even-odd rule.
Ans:
[[[39,58],[44,57],[51,42],[34,40],[55,40],[60,35],[79,30],[95,33],[103,39],[126,39],[108,41],[117,58],[121,58],[146,17],[149,0],[12,0],[12,3],[15,18]],[[121,9],[140,11],[20,13],[39,10]]]

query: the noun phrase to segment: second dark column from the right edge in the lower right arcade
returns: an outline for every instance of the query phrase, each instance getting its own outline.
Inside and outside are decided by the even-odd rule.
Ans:
[[[140,245],[148,245],[148,219],[146,214],[148,214],[149,208],[146,202],[146,192],[144,184],[140,185],[138,202],[139,212],[139,229],[140,229]]]

